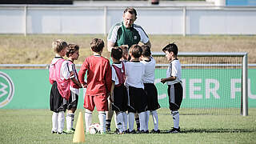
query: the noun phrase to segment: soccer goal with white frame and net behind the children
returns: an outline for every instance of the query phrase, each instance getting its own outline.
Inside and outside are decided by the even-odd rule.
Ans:
[[[166,68],[169,66],[169,62],[167,62],[166,58],[164,58],[165,54],[163,52],[153,52],[152,56],[156,60],[155,83],[156,82],[159,83],[158,77],[159,75],[161,75],[161,77],[165,76],[163,71],[164,70],[166,71]],[[218,90],[219,88],[218,86],[223,86],[219,84],[221,82],[218,82],[218,80],[217,81],[214,80],[214,78],[200,79],[200,77],[205,77],[205,75],[210,77],[215,73],[218,73],[216,75],[222,75],[222,77],[217,78],[217,79],[220,79],[219,81],[228,82],[227,80],[222,80],[222,78],[231,78],[230,86],[223,86],[223,87],[230,87],[229,89],[226,88],[224,90],[230,90],[231,95],[228,95],[228,93],[223,92],[222,97],[229,96],[229,98],[232,98],[229,104],[230,107],[232,107],[234,106],[233,103],[234,103],[235,95],[238,93],[241,94],[241,97],[239,99],[240,102],[238,102],[238,100],[236,101],[239,103],[239,106],[238,106],[238,103],[235,106],[238,106],[240,108],[240,113],[243,116],[248,115],[248,57],[246,52],[241,52],[241,53],[239,52],[229,52],[229,53],[226,53],[226,52],[179,52],[178,59],[182,64],[182,78],[184,78],[183,77],[184,71],[186,74],[185,77],[187,79],[190,77],[194,78],[192,80],[190,79],[189,83],[186,80],[186,82],[183,82],[183,85],[189,87],[189,89],[191,87],[196,89],[194,90],[194,92],[193,90],[185,90],[185,94],[183,94],[183,98],[186,98],[185,104],[187,104],[185,106],[191,107],[191,108],[198,108],[199,106],[197,107],[195,104],[189,104],[190,102],[188,100],[189,99],[188,97],[190,97],[191,98],[190,101],[193,101],[193,102],[200,102],[200,101],[196,101],[195,99],[205,97],[206,100],[202,101],[202,105],[206,106],[207,102],[209,102],[210,106],[207,108],[214,108],[214,107],[218,108],[218,106],[219,108],[229,107],[229,106],[223,106],[225,105],[225,103],[218,104],[218,102],[222,101],[222,98],[219,98],[220,96],[218,96],[218,91],[221,91],[221,90]],[[158,70],[162,70],[162,72],[158,72]],[[222,71],[223,73],[226,73],[226,74],[222,74]],[[194,81],[194,83],[191,81]],[[202,81],[205,81],[206,83],[206,86],[202,86],[202,88],[209,89],[209,90],[205,90],[206,94],[201,94],[201,95],[194,94],[194,93],[197,93],[199,90],[203,91],[202,88],[199,88],[199,86],[188,86],[188,85],[190,85],[191,83],[198,85],[198,83],[200,84],[200,82]],[[225,82],[222,82],[222,83],[225,83]],[[237,86],[238,82],[240,82],[241,85]],[[213,86],[214,84],[216,85],[215,87]],[[159,87],[160,90],[162,89],[161,85],[158,85],[157,87]],[[219,89],[222,89],[222,88],[219,88]],[[190,92],[192,94],[190,94]],[[212,96],[214,94],[215,94],[215,98],[217,98],[218,100],[214,100],[213,101],[214,104],[211,104],[210,102],[211,97],[214,97]],[[162,94],[158,93],[158,99],[159,98],[163,98],[163,96]],[[160,105],[161,105],[161,101],[160,101]]]

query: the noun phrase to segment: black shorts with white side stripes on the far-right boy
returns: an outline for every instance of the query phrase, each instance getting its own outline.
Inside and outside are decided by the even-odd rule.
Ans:
[[[168,85],[170,110],[178,110],[182,104],[183,88],[181,83]]]

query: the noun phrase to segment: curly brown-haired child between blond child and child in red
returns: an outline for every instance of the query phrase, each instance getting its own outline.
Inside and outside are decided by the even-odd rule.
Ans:
[[[78,82],[78,72],[75,68],[74,61],[78,60],[79,57],[79,46],[75,44],[69,44],[69,47],[66,51],[66,57],[69,62],[69,70],[74,73],[70,82],[70,99],[67,102],[67,114],[66,114],[66,132],[73,134],[74,133],[74,112],[77,110],[78,106],[78,95],[79,88],[82,87],[80,82]]]

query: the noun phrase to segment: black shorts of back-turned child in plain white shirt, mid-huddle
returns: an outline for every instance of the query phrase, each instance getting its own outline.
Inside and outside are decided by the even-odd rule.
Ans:
[[[141,113],[147,110],[146,93],[142,88],[129,86],[128,88],[128,112]]]

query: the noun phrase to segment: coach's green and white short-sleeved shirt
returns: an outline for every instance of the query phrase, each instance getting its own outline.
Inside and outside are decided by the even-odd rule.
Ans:
[[[107,41],[114,42],[114,46],[128,45],[129,47],[138,44],[138,42],[149,42],[149,38],[142,26],[133,25],[126,28],[122,22],[112,26]]]

